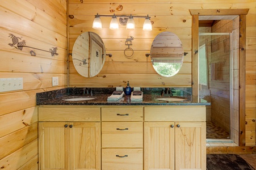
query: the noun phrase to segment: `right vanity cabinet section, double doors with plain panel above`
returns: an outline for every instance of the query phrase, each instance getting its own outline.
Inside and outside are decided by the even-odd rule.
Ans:
[[[205,107],[145,107],[144,114],[144,170],[206,169]]]

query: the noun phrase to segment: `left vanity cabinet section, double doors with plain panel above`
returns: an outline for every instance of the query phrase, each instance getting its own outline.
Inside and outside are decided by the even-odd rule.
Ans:
[[[99,170],[100,145],[100,108],[39,108],[39,169]]]

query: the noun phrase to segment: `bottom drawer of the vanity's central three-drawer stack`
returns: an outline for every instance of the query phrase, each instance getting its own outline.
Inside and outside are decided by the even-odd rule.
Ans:
[[[142,148],[103,148],[102,170],[142,170]]]

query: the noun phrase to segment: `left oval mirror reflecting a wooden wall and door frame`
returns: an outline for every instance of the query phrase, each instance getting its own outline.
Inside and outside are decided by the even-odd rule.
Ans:
[[[94,32],[79,35],[73,46],[72,59],[80,75],[97,75],[105,62],[105,46],[100,36]]]

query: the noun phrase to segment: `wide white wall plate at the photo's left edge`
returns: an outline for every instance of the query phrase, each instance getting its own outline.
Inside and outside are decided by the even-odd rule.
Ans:
[[[0,78],[0,92],[23,90],[23,78]]]

